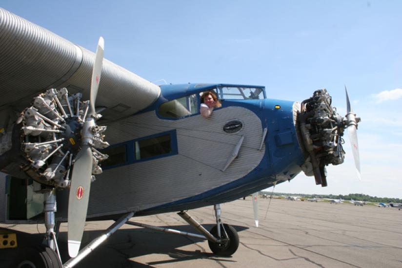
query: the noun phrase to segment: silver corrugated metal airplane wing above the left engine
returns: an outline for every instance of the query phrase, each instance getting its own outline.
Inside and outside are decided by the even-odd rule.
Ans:
[[[2,8],[0,58],[0,113],[6,108],[22,111],[50,88],[66,87],[89,99],[95,53]],[[96,104],[107,108],[105,119],[132,115],[160,95],[159,86],[106,59],[101,76]]]

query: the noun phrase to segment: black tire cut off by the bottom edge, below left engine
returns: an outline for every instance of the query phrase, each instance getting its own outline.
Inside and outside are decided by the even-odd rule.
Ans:
[[[55,251],[48,247],[20,249],[10,268],[62,268]]]

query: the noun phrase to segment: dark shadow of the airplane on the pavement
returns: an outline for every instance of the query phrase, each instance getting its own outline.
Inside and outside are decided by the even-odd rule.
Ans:
[[[203,227],[210,230],[213,225],[205,224]],[[241,226],[233,226],[238,232],[248,228]],[[177,225],[165,226],[165,228],[182,230],[197,233],[191,226]],[[7,230],[7,229],[0,229]],[[17,233],[18,248],[17,249],[0,249],[0,267],[6,268],[11,260],[18,254],[18,250],[26,247],[37,246],[42,243],[43,233],[30,234],[10,230]],[[104,230],[85,231],[82,239],[81,249],[85,247],[94,238],[100,236]],[[211,252],[209,247],[202,248],[197,244],[199,249],[183,250],[179,249],[183,246],[191,245],[197,242],[205,241],[199,238],[187,237],[178,234],[165,233],[161,231],[133,228],[117,230],[111,235],[100,247],[91,252],[84,260],[82,260],[77,268],[84,267],[152,267],[153,265],[169,264],[193,259],[216,259],[223,262],[233,262],[230,257],[222,258]],[[67,251],[67,232],[60,232],[58,244],[60,248],[61,259],[65,263],[68,259]],[[166,260],[149,261],[147,263],[138,263],[130,260],[131,258],[162,254],[166,255]],[[152,257],[147,259],[152,260]]]

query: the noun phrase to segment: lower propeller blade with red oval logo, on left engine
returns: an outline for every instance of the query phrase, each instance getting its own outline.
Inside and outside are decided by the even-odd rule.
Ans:
[[[80,250],[88,209],[92,176],[92,150],[84,145],[77,154],[68,198],[68,254],[75,257]]]

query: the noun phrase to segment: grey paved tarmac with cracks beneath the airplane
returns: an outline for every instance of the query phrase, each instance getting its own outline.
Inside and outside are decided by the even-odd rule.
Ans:
[[[401,268],[402,211],[374,206],[326,202],[259,199],[260,226],[254,226],[251,197],[222,204],[222,221],[240,236],[232,257],[211,253],[206,240],[124,225],[77,268],[84,267],[297,267]],[[210,229],[212,207],[188,212]],[[131,219],[154,226],[193,231],[176,213]],[[87,222],[84,242],[101,234],[113,222]],[[18,232],[19,247],[40,243],[42,225],[4,225]],[[66,225],[60,228],[60,250],[65,262]],[[27,235],[30,233],[30,235]],[[63,243],[64,241],[64,243]],[[0,267],[7,267],[14,249],[0,249]]]

